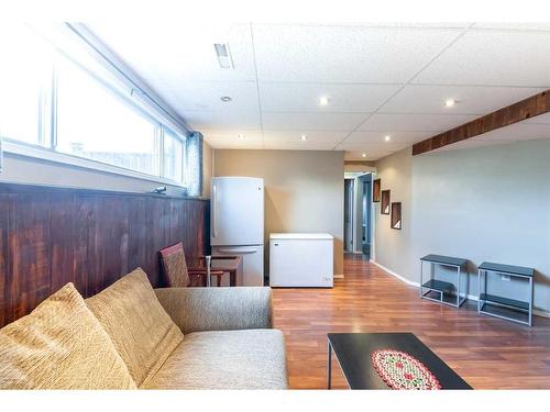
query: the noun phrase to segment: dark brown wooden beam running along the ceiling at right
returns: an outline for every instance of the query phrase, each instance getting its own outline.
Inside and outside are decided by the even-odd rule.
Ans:
[[[413,145],[413,156],[550,112],[550,89]]]

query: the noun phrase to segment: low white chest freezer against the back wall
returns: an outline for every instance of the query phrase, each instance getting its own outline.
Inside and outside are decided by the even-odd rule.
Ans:
[[[328,233],[272,233],[270,286],[332,288],[333,243]]]

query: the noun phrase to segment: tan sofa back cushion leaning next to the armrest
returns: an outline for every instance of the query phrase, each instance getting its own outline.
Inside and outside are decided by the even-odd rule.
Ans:
[[[141,269],[86,300],[140,387],[183,341]]]

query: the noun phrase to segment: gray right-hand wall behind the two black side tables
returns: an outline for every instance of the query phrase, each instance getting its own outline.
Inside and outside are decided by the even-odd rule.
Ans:
[[[406,149],[382,159],[382,187],[393,189],[393,200],[394,190],[403,196],[410,218],[403,233],[377,225],[376,260],[415,282],[428,253],[468,258],[472,271],[484,260],[535,267],[535,307],[550,312],[549,159],[550,140],[415,157]],[[525,298],[513,282],[490,287]],[[471,281],[470,294],[476,293]]]

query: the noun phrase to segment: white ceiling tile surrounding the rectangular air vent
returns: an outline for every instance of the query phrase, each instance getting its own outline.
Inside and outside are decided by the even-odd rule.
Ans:
[[[90,30],[146,81],[175,86],[186,80],[255,80],[249,24],[185,24],[95,21]],[[222,69],[213,47],[227,43],[234,69]]]

